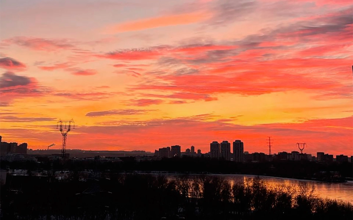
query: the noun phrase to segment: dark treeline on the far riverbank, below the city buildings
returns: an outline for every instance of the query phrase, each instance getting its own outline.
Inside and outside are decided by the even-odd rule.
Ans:
[[[353,177],[352,163],[316,163],[309,161],[273,161],[262,163],[235,163],[206,158],[170,158],[161,161],[136,162],[134,157],[121,158],[123,162],[102,159],[35,162],[1,162],[1,168],[30,170],[84,170],[100,172],[168,171],[179,173],[224,173],[267,175],[287,178],[321,180],[327,177]]]

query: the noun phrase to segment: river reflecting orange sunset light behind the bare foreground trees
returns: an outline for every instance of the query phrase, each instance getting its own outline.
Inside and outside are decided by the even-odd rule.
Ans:
[[[173,177],[180,176],[178,174],[167,174],[169,179]],[[192,176],[192,175],[191,175]],[[253,178],[252,175],[212,175],[212,176],[222,176],[231,183],[244,183],[247,178]],[[315,195],[321,198],[342,200],[345,202],[351,202],[353,204],[353,182],[349,181],[347,183],[328,183],[319,181],[309,181],[309,180],[296,180],[280,177],[268,177],[260,176],[265,184],[269,187],[275,187],[279,185],[298,187],[300,183],[306,183],[310,188],[315,189]]]

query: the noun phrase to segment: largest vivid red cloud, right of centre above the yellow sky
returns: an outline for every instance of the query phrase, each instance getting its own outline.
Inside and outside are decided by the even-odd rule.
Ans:
[[[285,74],[276,71],[245,71],[228,77],[221,75],[181,75],[158,77],[168,83],[144,83],[134,89],[173,91],[194,94],[236,93],[242,95],[261,95],[288,90],[312,90],[325,92],[341,90],[351,94],[351,90],[343,89],[343,84],[322,77],[305,77],[299,74]],[[343,89],[343,90],[342,90]]]

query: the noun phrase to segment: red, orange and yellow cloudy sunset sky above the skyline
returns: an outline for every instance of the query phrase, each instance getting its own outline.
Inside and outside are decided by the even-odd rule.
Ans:
[[[1,0],[0,134],[31,149],[353,154],[352,0]]]

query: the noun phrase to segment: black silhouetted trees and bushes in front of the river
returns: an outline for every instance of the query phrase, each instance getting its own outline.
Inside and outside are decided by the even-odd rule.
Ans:
[[[306,185],[266,186],[259,178],[107,173],[100,179],[9,176],[1,219],[353,219],[353,206],[319,199]]]

